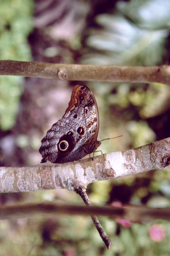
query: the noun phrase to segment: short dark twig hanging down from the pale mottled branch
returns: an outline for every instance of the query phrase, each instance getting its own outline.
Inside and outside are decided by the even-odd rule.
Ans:
[[[89,197],[87,196],[86,189],[83,187],[79,187],[75,190],[77,194],[83,199],[86,206],[92,206]],[[103,242],[106,244],[107,249],[109,250],[112,247],[112,241],[109,240],[109,237],[106,235],[105,231],[103,230],[102,225],[99,223],[99,220],[96,215],[91,215],[94,225],[96,226],[97,231],[99,232],[100,237],[102,238]]]

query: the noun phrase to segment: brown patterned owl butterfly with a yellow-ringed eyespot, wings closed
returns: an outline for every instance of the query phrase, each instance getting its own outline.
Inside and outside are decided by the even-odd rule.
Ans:
[[[87,86],[76,85],[64,116],[42,139],[41,163],[67,163],[93,153],[97,141],[99,112],[93,93]]]

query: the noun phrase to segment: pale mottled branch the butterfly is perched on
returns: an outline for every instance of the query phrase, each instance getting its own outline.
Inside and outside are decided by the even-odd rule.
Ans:
[[[32,167],[0,167],[0,192],[44,189],[75,191],[95,181],[104,181],[154,169],[170,168],[170,138],[127,151],[92,159]]]

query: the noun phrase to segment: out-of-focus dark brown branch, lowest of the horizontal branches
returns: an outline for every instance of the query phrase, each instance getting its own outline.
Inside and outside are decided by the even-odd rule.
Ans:
[[[67,215],[100,215],[111,219],[126,219],[132,223],[146,223],[153,220],[170,220],[170,208],[149,208],[146,206],[99,207],[78,206],[61,203],[38,203],[27,205],[1,205],[0,220],[12,218],[56,217]]]

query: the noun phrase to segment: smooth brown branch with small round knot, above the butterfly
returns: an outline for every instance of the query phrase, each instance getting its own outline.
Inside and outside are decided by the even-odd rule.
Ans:
[[[160,82],[170,85],[170,66],[167,65],[129,67],[1,60],[0,75],[20,75],[70,81]]]

